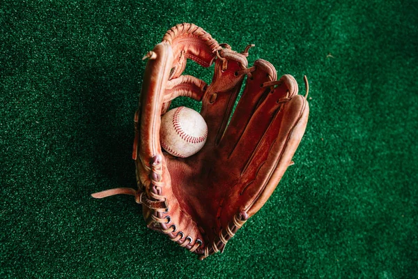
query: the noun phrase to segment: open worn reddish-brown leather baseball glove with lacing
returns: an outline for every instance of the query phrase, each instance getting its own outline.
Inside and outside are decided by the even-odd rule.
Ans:
[[[222,252],[261,209],[293,163],[307,126],[307,93],[297,95],[291,75],[277,80],[268,61],[258,59],[247,66],[251,46],[235,52],[194,24],[167,31],[162,43],[144,57],[148,63],[134,118],[132,153],[138,189],[93,194],[134,195],[149,228],[167,234],[200,259]],[[212,82],[181,75],[187,59],[203,67],[215,63]],[[229,121],[245,77],[245,89]],[[206,144],[189,158],[171,156],[160,145],[161,116],[178,96],[201,101],[208,124]]]

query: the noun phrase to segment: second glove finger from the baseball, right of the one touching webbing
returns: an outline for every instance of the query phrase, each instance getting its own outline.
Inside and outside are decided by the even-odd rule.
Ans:
[[[270,89],[261,86],[264,82],[277,79],[274,66],[268,61],[258,59],[254,62],[255,70],[247,77],[245,89],[231,118],[228,128],[219,143],[219,150],[224,158],[231,156],[231,152],[242,137],[245,128],[256,112],[258,105],[268,95]]]

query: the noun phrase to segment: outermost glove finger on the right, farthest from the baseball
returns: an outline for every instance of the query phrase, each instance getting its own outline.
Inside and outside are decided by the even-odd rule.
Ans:
[[[222,224],[228,223],[237,209],[251,217],[265,204],[291,163],[307,126],[308,115],[307,100],[294,96],[274,116],[270,129],[248,162],[249,167],[242,173],[240,183],[224,200],[229,206],[222,212]]]

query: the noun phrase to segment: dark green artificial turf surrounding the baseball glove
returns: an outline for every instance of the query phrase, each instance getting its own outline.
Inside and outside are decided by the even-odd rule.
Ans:
[[[417,7],[1,1],[0,277],[418,278]],[[295,165],[203,262],[146,229],[132,197],[90,197],[136,185],[141,57],[181,22],[311,85]]]

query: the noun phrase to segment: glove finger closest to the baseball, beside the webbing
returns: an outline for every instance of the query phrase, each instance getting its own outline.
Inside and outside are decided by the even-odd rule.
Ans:
[[[212,150],[219,144],[244,78],[235,73],[245,68],[245,56],[228,49],[222,50],[220,57],[215,61],[212,83],[206,89],[202,100],[201,115],[208,124],[208,138],[203,149]]]

